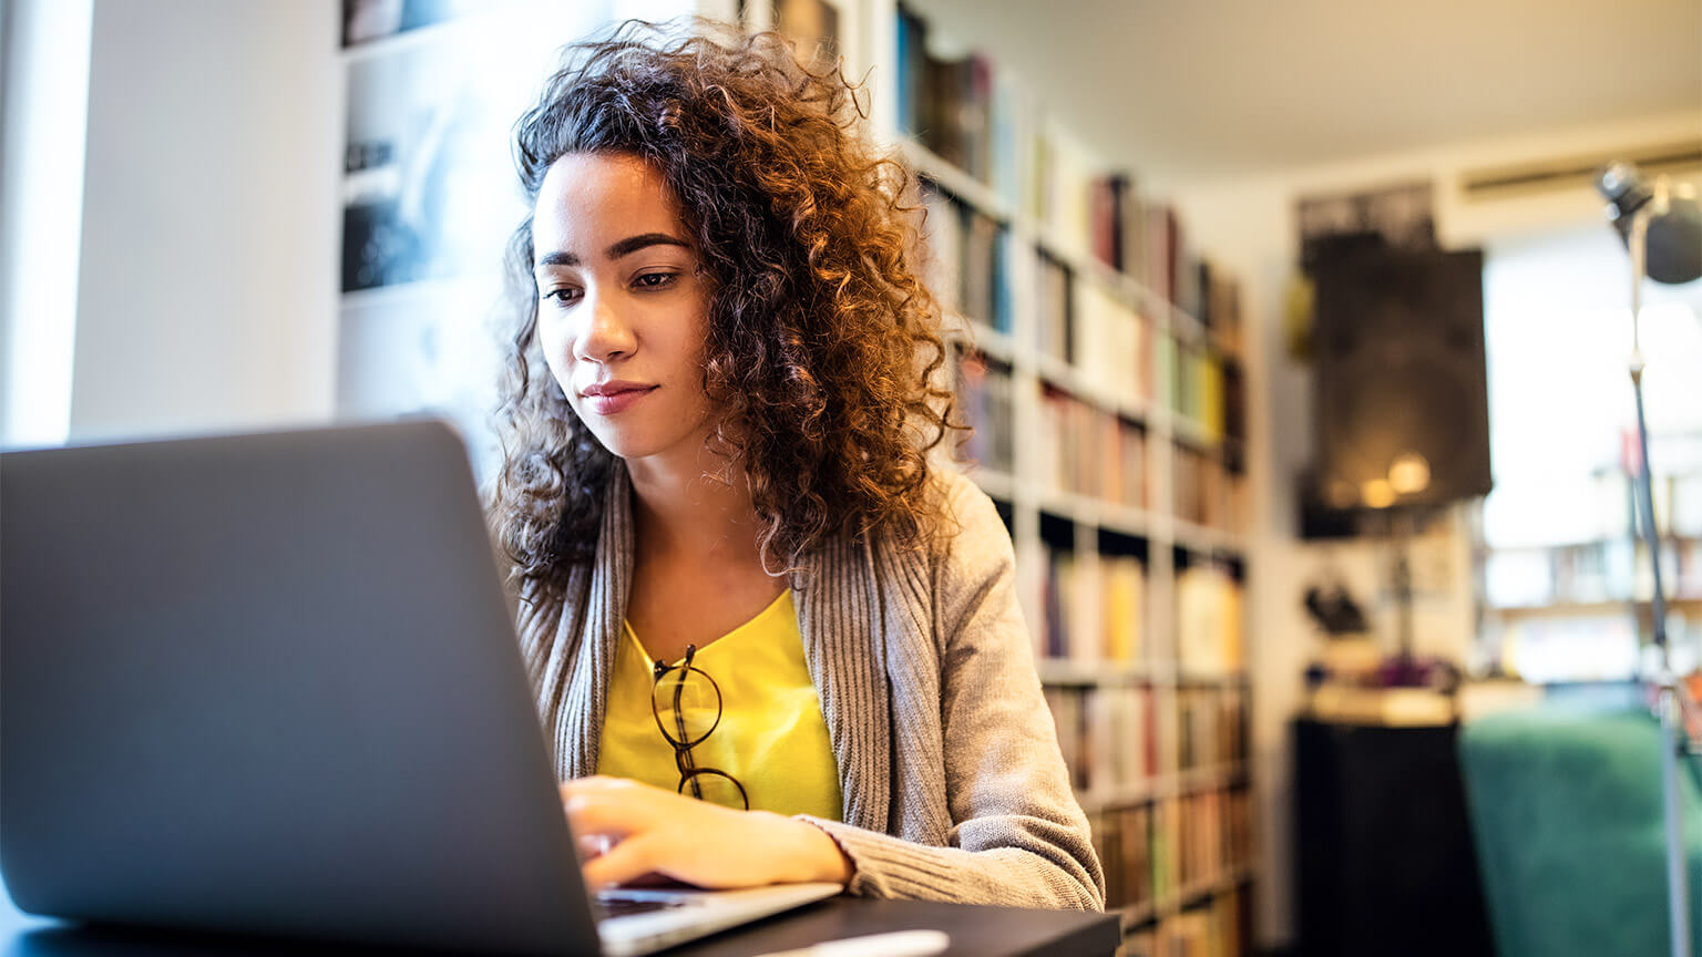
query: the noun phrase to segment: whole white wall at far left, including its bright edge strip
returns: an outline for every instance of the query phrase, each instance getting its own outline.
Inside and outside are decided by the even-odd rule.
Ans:
[[[337,0],[10,14],[0,443],[330,417]]]

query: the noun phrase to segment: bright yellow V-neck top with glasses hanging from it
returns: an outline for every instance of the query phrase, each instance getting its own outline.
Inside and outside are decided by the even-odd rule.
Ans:
[[[803,664],[791,591],[698,649],[691,664],[722,690],[722,720],[691,748],[693,765],[737,778],[752,811],[839,821],[839,765],[822,719],[822,700]],[[654,674],[650,654],[631,625],[623,623],[597,773],[676,790],[674,746],[662,737],[650,705]],[[700,720],[700,727],[715,720],[713,698]],[[691,794],[689,785],[686,794]]]

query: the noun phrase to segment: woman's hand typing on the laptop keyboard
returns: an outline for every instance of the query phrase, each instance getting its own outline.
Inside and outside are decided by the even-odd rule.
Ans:
[[[851,880],[851,862],[825,831],[768,811],[606,776],[563,782],[562,807],[592,892],[650,874],[698,887]],[[597,845],[613,846],[584,853]]]

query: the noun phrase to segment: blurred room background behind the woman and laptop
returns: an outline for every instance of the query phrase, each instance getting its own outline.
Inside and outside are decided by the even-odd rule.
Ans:
[[[681,14],[921,175],[1127,952],[1666,952],[1702,283],[1644,286],[1656,557],[1596,181],[1693,218],[1695,0],[0,0],[0,444],[441,414],[488,478],[512,123]]]

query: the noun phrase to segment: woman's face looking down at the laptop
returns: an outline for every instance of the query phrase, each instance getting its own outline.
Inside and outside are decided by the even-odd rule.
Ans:
[[[568,153],[533,209],[538,341],[574,412],[614,455],[694,467],[708,288],[660,175],[625,153]]]

